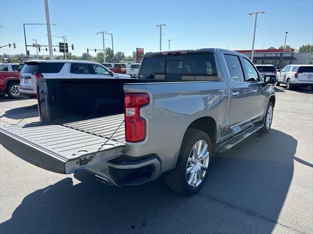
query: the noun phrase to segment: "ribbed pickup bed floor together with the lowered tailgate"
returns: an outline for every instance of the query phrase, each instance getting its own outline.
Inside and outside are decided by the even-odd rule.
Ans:
[[[0,137],[3,146],[15,149],[12,153],[22,159],[49,171],[68,174],[84,166],[79,158],[94,154],[105,142],[92,164],[120,155],[125,147],[123,120],[124,114],[62,125],[52,122],[11,124],[3,126]],[[19,139],[24,143],[17,143],[21,142]]]

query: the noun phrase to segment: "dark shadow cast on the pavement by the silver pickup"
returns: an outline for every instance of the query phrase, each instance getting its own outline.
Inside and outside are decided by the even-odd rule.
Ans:
[[[270,233],[291,184],[296,147],[283,132],[256,133],[215,156],[202,190],[190,197],[171,192],[163,179],[117,188],[77,172],[81,183],[67,177],[27,195],[0,232]]]

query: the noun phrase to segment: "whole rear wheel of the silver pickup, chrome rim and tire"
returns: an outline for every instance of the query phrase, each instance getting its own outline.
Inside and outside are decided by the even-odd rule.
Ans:
[[[182,195],[197,193],[207,178],[211,160],[212,144],[208,135],[201,130],[187,129],[176,168],[165,175],[166,184]]]

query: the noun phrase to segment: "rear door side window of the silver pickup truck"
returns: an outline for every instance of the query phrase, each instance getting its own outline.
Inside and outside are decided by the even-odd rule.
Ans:
[[[243,69],[239,57],[235,55],[224,55],[230,78],[236,82],[245,81]]]

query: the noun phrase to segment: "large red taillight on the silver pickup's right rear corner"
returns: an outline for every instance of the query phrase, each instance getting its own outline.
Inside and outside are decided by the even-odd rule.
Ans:
[[[148,94],[125,95],[125,137],[128,142],[146,138],[146,120],[140,117],[140,108],[149,104]]]

